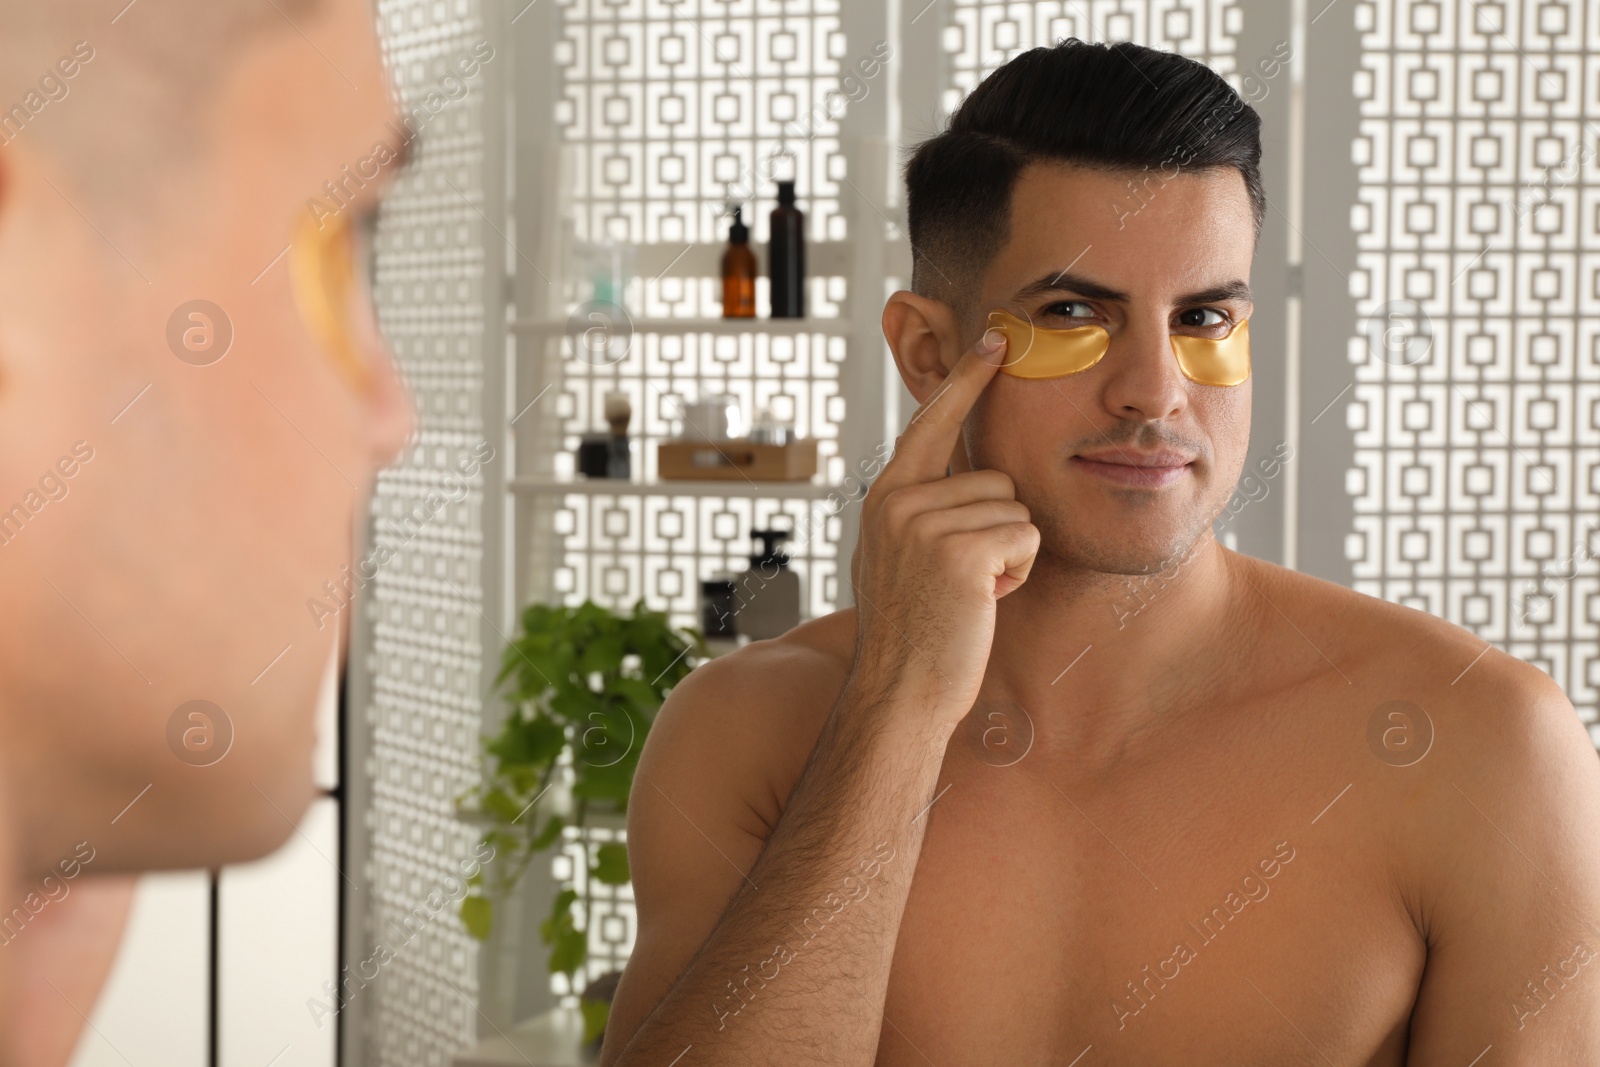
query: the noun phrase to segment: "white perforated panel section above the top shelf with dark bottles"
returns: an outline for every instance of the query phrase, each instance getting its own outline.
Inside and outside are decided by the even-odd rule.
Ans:
[[[565,0],[558,120],[579,150],[578,237],[722,242],[730,195],[773,205],[770,162],[795,178],[813,240],[842,240],[838,0]],[[749,205],[747,205],[749,208]],[[746,210],[752,240],[765,213]],[[720,315],[675,285],[664,307]],[[701,299],[694,299],[699,296]],[[658,312],[645,306],[645,314]]]

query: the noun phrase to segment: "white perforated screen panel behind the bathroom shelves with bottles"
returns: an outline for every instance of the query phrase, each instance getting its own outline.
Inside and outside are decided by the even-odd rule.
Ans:
[[[842,522],[819,510],[845,474],[842,432],[872,395],[846,400],[856,339],[846,317],[854,245],[840,118],[848,53],[838,0],[563,0],[515,26],[518,173],[515,411],[518,601],[627,611],[638,598],[678,624],[698,621],[699,582],[749,565],[750,531],[781,526],[808,616],[838,598]],[[554,75],[538,67],[554,64]],[[859,77],[859,72],[858,72]],[[886,78],[880,66],[874,77]],[[878,91],[885,91],[880,85]],[[805,320],[723,322],[718,256],[728,205],[752,243],[766,242],[779,178],[806,213]],[[618,253],[622,277],[594,266]],[[613,288],[614,286],[614,288]],[[598,318],[595,318],[598,315]],[[605,331],[600,347],[592,330]],[[606,392],[627,395],[634,480],[573,478],[586,430],[605,427]],[[725,394],[746,414],[766,406],[819,445],[821,485],[672,485],[654,446],[682,400]],[[587,881],[589,856],[619,824],[568,830],[552,885],[590,901],[589,960],[578,987],[621,968],[634,941],[632,891]],[[547,899],[530,889],[523,929]],[[542,974],[542,947],[496,968],[514,1006],[573,1003],[565,976]],[[542,989],[536,989],[536,985]]]

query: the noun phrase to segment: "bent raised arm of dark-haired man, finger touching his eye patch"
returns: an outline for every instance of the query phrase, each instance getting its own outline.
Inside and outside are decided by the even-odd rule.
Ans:
[[[629,801],[640,931],[608,1027],[608,1067],[669,1064],[690,1048],[698,1064],[741,1067],[874,1061],[923,811],[982,685],[995,601],[1027,581],[1038,550],[1006,475],[946,477],[962,422],[1002,360],[1003,342],[981,342],[955,363],[862,501],[850,677],[754,864],[741,862],[752,835],[738,832],[750,805],[715,781],[749,771],[706,766],[709,753],[738,747],[680,721],[726,718],[715,704],[723,694],[685,680],[662,709],[666,729],[651,731]],[[779,672],[750,685],[766,689],[750,712],[795,699]],[[688,851],[690,832],[730,841],[741,859],[723,859],[738,880],[706,867],[704,849]]]

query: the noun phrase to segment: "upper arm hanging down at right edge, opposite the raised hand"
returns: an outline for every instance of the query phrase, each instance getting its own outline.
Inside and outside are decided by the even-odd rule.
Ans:
[[[1600,1064],[1600,760],[1544,672],[1477,669],[1437,723],[1406,1064]]]

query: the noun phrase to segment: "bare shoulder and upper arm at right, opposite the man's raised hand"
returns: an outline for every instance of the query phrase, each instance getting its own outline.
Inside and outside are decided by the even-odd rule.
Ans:
[[[1496,646],[1515,635],[1490,641],[1259,560],[1237,573],[1272,651],[1315,645],[1342,675],[1320,669],[1328,729],[1307,760],[1349,781],[1346,819],[1320,832],[1352,869],[1370,856],[1387,872],[1373,905],[1403,907],[1426,945],[1408,1062],[1485,1046],[1600,1062],[1600,997],[1579,977],[1600,960],[1600,758],[1571,701]]]

